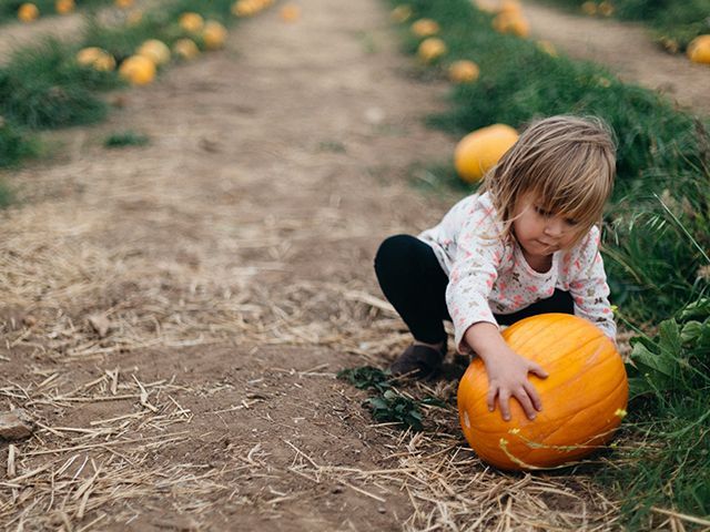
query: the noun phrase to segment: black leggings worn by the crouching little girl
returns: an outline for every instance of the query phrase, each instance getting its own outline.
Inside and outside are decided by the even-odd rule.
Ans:
[[[448,277],[432,246],[410,235],[390,236],[377,250],[375,273],[382,291],[415,339],[427,344],[446,339],[444,320],[452,320],[446,308]],[[547,299],[517,313],[494,316],[499,325],[511,325],[544,313],[575,314],[572,297],[568,291],[555,289]]]

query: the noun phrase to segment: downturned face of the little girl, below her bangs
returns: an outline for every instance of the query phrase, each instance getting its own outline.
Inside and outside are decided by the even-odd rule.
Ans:
[[[520,247],[534,258],[548,257],[558,249],[571,247],[579,234],[576,219],[548,213],[531,195],[523,196],[514,212],[514,234]]]

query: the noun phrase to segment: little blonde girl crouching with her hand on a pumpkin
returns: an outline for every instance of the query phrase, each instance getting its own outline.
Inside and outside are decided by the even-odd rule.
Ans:
[[[616,340],[597,225],[615,157],[601,121],[540,120],[488,172],[480,193],[458,202],[418,237],[383,242],[377,279],[414,336],[392,372],[435,375],[446,355],[443,320],[450,320],[456,349],[485,362],[488,408],[494,410],[497,398],[508,420],[515,397],[534,419],[542,406],[528,372],[547,374],[506,345],[499,325],[567,313]]]

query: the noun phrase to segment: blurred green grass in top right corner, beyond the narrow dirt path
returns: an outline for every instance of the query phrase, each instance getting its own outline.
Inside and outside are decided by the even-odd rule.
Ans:
[[[547,2],[579,13],[585,0]],[[686,50],[696,37],[710,33],[710,0],[610,0],[610,3],[613,17],[648,24],[658,41],[668,45],[672,40],[679,51]]]

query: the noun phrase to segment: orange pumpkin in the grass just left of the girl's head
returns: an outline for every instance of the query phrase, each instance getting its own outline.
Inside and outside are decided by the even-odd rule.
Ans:
[[[454,151],[459,177],[476,183],[518,140],[518,132],[506,124],[494,124],[464,136]]]

